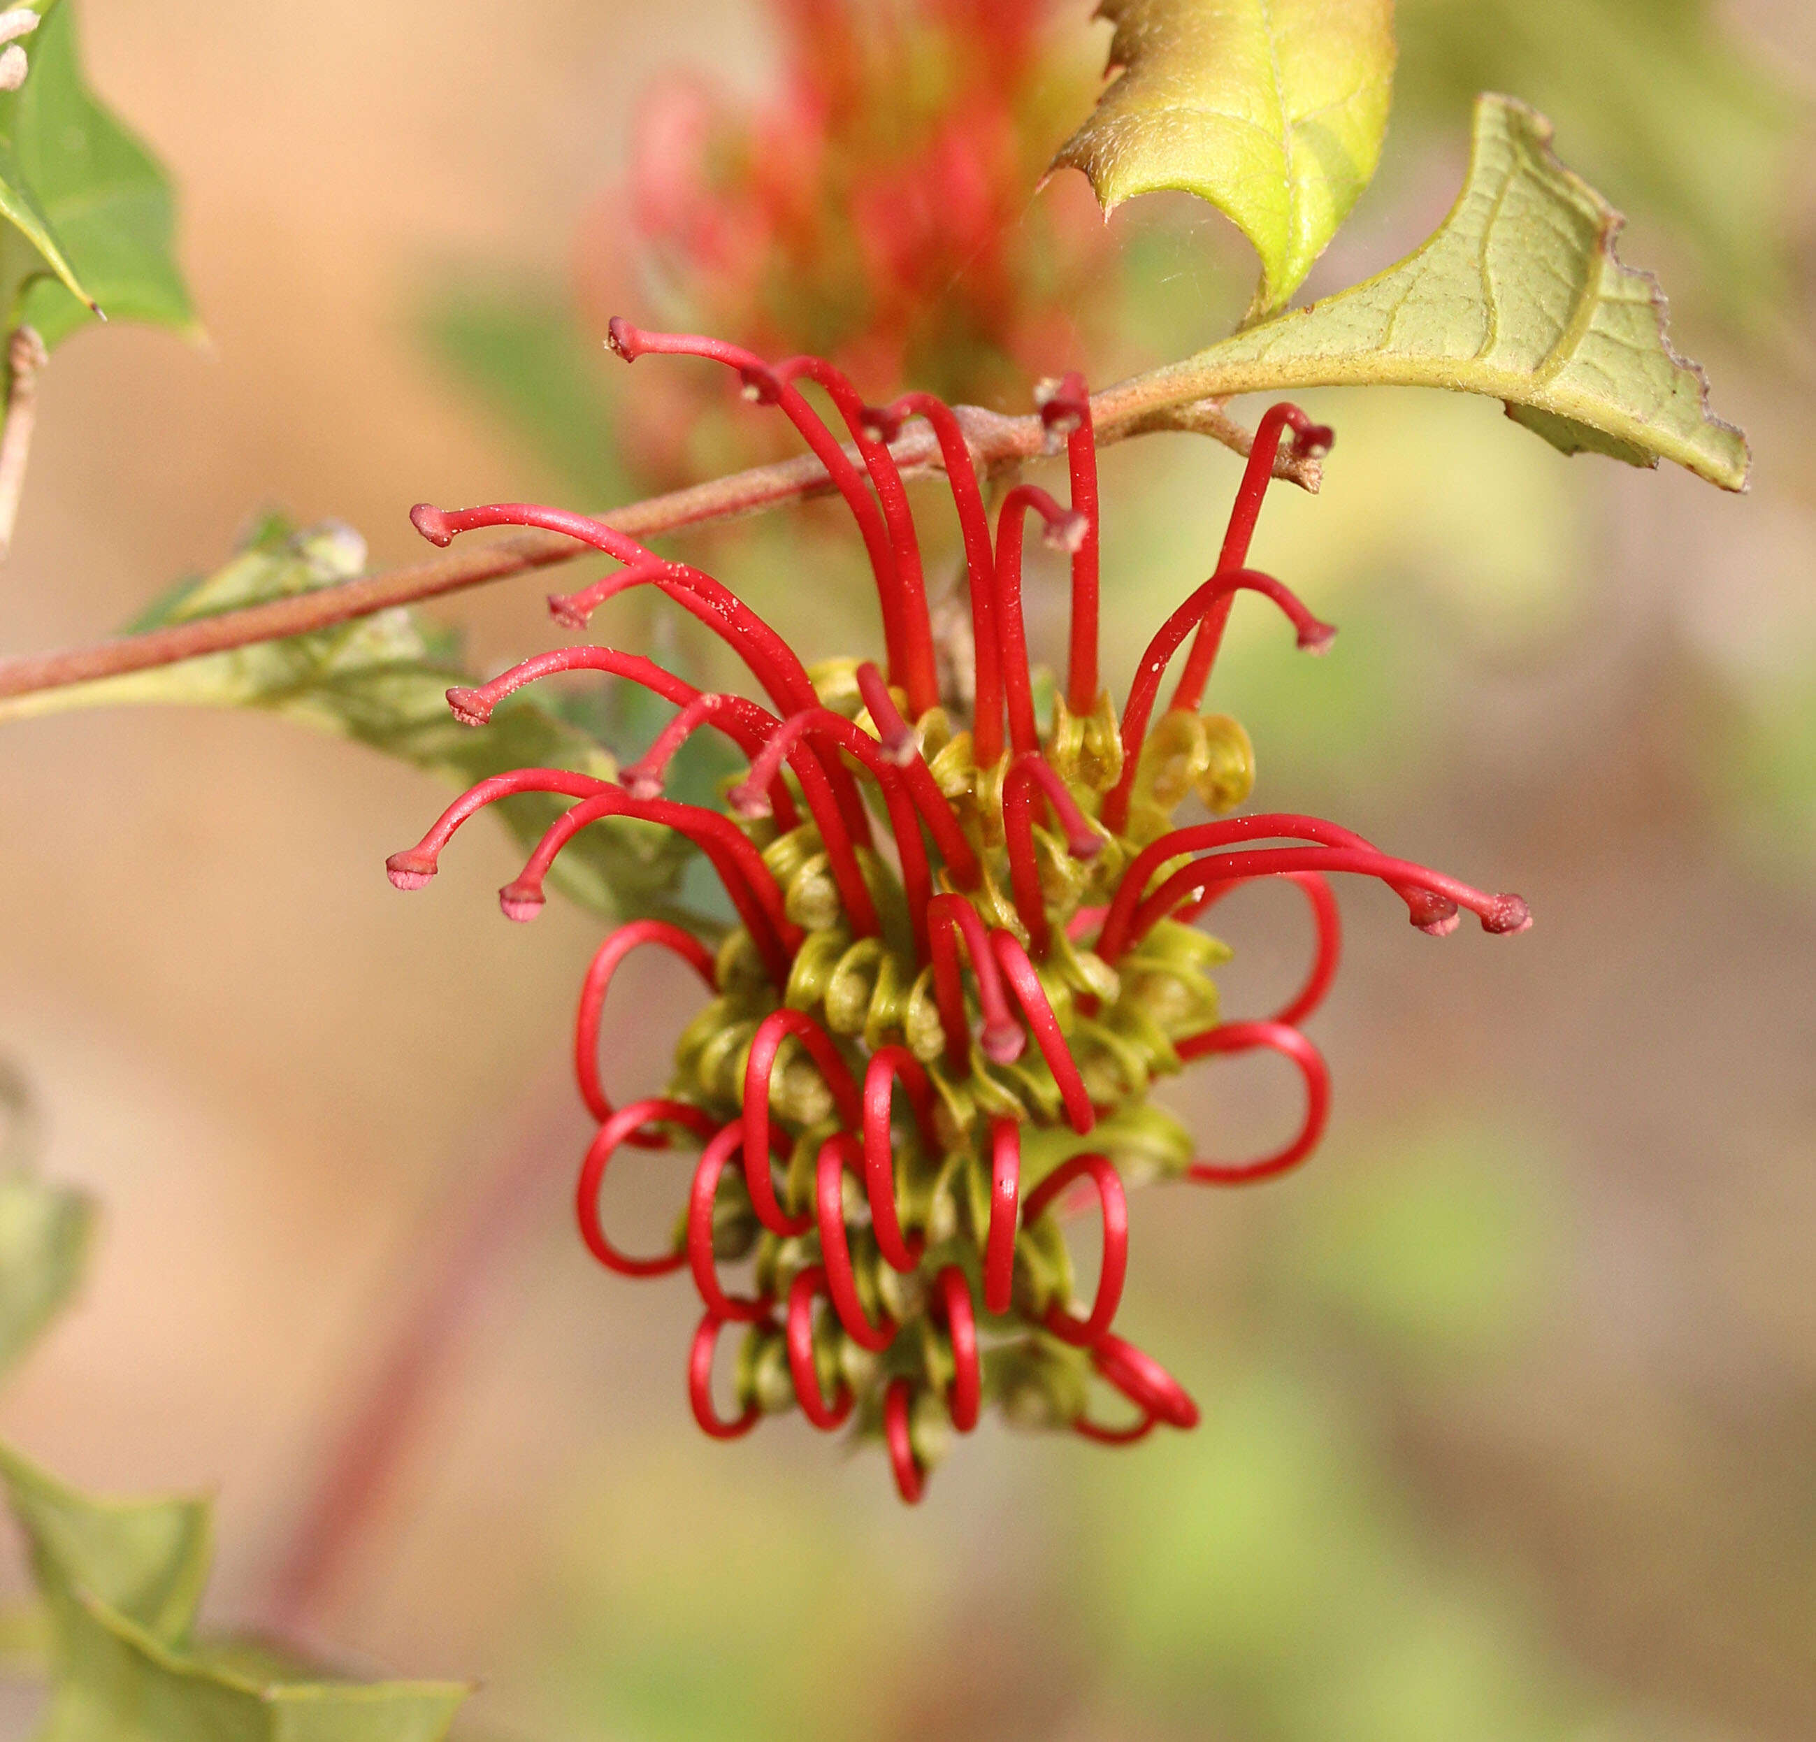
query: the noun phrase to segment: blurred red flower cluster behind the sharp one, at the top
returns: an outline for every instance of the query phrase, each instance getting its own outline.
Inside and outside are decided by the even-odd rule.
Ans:
[[[623,185],[588,216],[579,294],[672,325],[808,349],[857,380],[1021,398],[1119,283],[1082,178],[1030,200],[1099,85],[1053,0],[768,0],[772,94],[697,76],[641,100]],[[1108,336],[1091,331],[1091,338]],[[690,376],[625,407],[652,487],[748,456]]]

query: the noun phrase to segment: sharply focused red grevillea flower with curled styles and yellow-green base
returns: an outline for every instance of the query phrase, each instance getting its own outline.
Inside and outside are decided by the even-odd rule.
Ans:
[[[1229,812],[1253,785],[1248,737],[1200,699],[1235,598],[1258,594],[1322,652],[1333,630],[1273,576],[1248,567],[1249,538],[1284,440],[1318,450],[1329,431],[1277,405],[1255,436],[1217,570],[1160,625],[1120,718],[1097,674],[1097,476],[1091,407],[1068,376],[1042,416],[1070,460],[1070,503],[1017,485],[992,527],[959,423],[928,394],[868,407],[832,365],[766,363],[708,338],[612,323],[612,347],[708,358],[775,405],[826,465],[863,534],[883,601],[884,665],[821,696],[801,659],[712,576],[657,558],[612,527],[558,509],[503,503],[461,512],[418,507],[438,545],[474,527],[548,527],[621,567],[550,601],[585,623],[627,587],[656,587],[745,661],[766,705],[699,694],[650,661],[570,647],[481,688],[449,692],[483,725],[498,701],[552,672],[597,670],[643,683],[679,712],[614,781],[521,768],[474,787],[390,877],[418,888],[459,825],[492,799],[574,799],[501,890],[530,919],[556,856],[616,816],[697,843],[737,912],[717,950],[663,921],[621,926],[599,946],[576,1024],[579,1090],[599,1121],[579,1173],[577,1215],[592,1253],[623,1275],[686,1272],[703,1304],[688,1357],[699,1426],[748,1433],[799,1408],[817,1428],[846,1422],[883,1439],[903,1499],[915,1500],[952,1430],[986,1404],[1021,1424],[1088,1439],[1140,1439],[1157,1422],[1189,1428],[1197,1406],[1166,1370],[1120,1339],[1128,1270],[1126,1190],[1153,1177],[1248,1184],[1297,1166],[1329,1112],[1329,1075],[1302,1032],[1338,957],[1333,872],[1375,877],[1413,925],[1444,934],[1464,908],[1489,932],[1531,919],[1518,896],[1491,896],[1306,816],[1224,816],[1175,826],[1197,794]],[[801,394],[817,383],[857,458]],[[964,532],[977,658],[975,712],[943,707],[913,518],[888,441],[926,418],[944,450]],[[1022,632],[1028,516],[1071,554],[1066,681],[1041,721]],[[1160,683],[1184,652],[1179,688],[1157,716]],[[726,810],[663,797],[681,741],[725,734],[750,772]],[[1311,906],[1317,950],[1300,992],[1271,1017],[1224,1021],[1209,970],[1222,946],[1191,919],[1257,877],[1288,877]],[[599,1077],[601,1012],[619,963],[666,950],[701,979],[706,1003],[676,1048],[661,1095],[617,1106]],[[1251,1161],[1195,1161],[1150,1084],[1208,1055],[1275,1052],[1306,1088],[1298,1135]],[[599,1188],[619,1152],[697,1155],[670,1248],[627,1253],[603,1226]],[[1091,1213],[1102,1257],[1077,1299],[1062,1221]],[[735,1288],[723,1266],[748,1261]],[[735,1408],[714,1401],[714,1357],[741,1328]],[[1090,1390],[1120,1399],[1104,1417]]]

